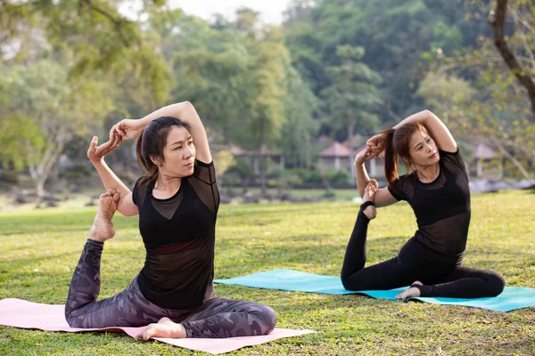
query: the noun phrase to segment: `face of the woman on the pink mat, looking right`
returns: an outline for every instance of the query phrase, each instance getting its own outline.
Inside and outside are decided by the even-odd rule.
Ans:
[[[184,126],[173,126],[163,148],[164,161],[160,173],[171,177],[186,177],[193,174],[195,146],[192,135]]]

